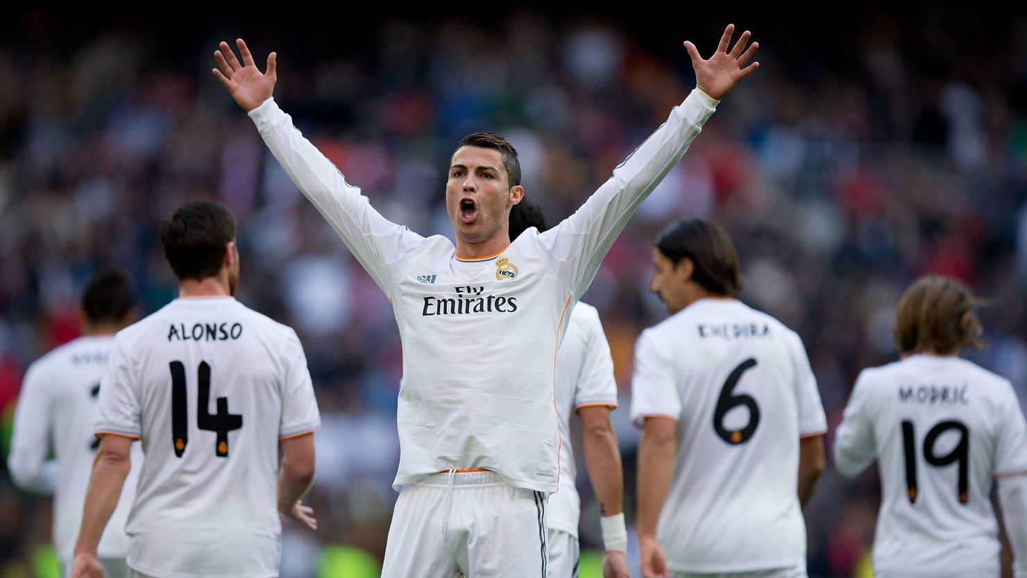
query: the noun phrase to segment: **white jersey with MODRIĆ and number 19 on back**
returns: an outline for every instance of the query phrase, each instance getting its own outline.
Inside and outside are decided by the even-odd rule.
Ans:
[[[996,477],[1027,472],[1027,427],[1009,380],[954,356],[864,370],[834,444],[855,475],[878,460],[874,575],[999,575]]]

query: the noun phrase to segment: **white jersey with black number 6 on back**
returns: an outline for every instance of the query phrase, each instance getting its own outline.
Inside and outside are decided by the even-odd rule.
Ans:
[[[632,420],[646,417],[678,422],[656,536],[668,567],[804,576],[799,438],[827,420],[799,336],[736,300],[689,305],[639,338]]]

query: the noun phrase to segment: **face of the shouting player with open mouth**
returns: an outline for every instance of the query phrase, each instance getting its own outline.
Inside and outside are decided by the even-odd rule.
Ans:
[[[446,182],[446,210],[457,236],[484,243],[506,236],[509,207],[523,189],[510,187],[502,153],[482,147],[460,147],[450,162]]]

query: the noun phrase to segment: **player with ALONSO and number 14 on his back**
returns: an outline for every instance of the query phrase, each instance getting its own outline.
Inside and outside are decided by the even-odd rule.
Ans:
[[[320,425],[303,348],[232,297],[239,257],[225,205],[183,204],[160,239],[179,299],[115,337],[73,576],[100,576],[97,541],[132,439],[146,453],[126,528],[134,575],[277,576],[278,512],[316,527],[300,504]]]

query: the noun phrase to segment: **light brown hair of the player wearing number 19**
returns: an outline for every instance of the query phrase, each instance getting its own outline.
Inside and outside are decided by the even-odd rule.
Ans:
[[[941,275],[920,277],[899,300],[892,330],[899,353],[955,355],[967,347],[980,349],[984,330],[974,310],[979,304],[959,281]]]

